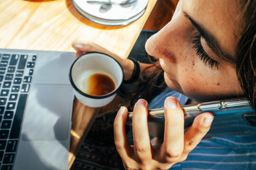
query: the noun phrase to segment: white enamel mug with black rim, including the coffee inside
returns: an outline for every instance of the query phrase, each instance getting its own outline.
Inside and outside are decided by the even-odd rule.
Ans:
[[[80,102],[101,107],[114,99],[124,73],[116,59],[104,53],[90,52],[73,62],[69,78]]]

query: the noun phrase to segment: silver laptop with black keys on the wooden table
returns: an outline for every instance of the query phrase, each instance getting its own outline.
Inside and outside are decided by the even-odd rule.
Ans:
[[[67,170],[73,52],[0,49],[0,170]]]

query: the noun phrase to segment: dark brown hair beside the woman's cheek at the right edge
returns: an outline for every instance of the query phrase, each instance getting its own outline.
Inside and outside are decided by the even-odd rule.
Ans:
[[[252,107],[256,110],[256,0],[240,0],[242,34],[237,45],[238,81]]]

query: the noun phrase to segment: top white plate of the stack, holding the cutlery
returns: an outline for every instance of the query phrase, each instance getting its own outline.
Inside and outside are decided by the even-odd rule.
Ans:
[[[99,0],[108,1],[108,0]],[[115,3],[123,0],[111,0],[113,2],[108,11],[101,12],[101,4],[89,4],[87,0],[73,0],[73,3],[87,15],[105,20],[128,20],[140,14],[147,6],[148,0],[137,0],[129,7],[121,7]]]

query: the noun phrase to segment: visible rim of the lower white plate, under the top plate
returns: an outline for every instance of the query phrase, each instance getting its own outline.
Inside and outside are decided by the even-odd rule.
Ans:
[[[139,17],[141,17],[144,12],[146,11],[146,9],[143,9],[139,14],[137,14],[136,16],[130,18],[130,19],[126,19],[126,20],[105,20],[105,19],[101,19],[101,18],[97,18],[97,17],[93,17],[91,15],[88,15],[87,13],[85,13],[82,9],[80,9],[75,3],[73,3],[74,7],[76,8],[76,10],[85,18],[87,18],[88,20],[90,20],[91,22],[94,22],[96,24],[100,24],[103,26],[126,26],[134,21],[136,21]]]

